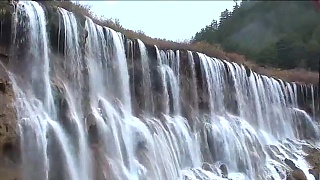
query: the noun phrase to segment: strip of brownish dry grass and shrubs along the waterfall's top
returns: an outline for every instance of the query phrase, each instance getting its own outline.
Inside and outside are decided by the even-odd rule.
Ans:
[[[179,49],[179,50],[197,51],[211,57],[225,59],[227,61],[233,61],[238,64],[244,64],[259,74],[264,74],[267,76],[283,79],[285,81],[289,81],[289,82],[295,81],[300,83],[312,83],[312,84],[319,83],[319,72],[310,72],[307,70],[298,70],[298,69],[281,70],[281,69],[275,69],[271,67],[261,67],[261,66],[258,66],[253,61],[246,59],[246,57],[243,55],[239,55],[236,53],[227,53],[223,51],[223,49],[220,48],[219,45],[211,45],[206,42],[196,42],[196,43],[190,43],[188,41],[174,42],[174,41],[169,41],[164,39],[151,38],[145,35],[142,31],[136,32],[129,29],[125,29],[120,25],[119,22],[115,22],[112,19],[96,17],[90,11],[90,7],[87,7],[78,3],[71,3],[68,1],[59,2],[57,3],[57,6],[65,8],[76,14],[82,14],[82,15],[88,16],[96,24],[99,24],[101,26],[106,26],[116,31],[119,31],[130,39],[140,39],[145,44],[157,45],[160,49],[173,49],[173,50]]]

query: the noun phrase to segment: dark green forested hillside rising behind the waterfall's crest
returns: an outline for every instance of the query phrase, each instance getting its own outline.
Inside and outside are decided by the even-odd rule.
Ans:
[[[259,64],[317,71],[320,11],[314,1],[236,2],[192,40],[219,44]]]

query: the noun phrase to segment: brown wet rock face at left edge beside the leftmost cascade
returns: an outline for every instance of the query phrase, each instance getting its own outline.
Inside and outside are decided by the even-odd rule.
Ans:
[[[20,138],[17,130],[14,93],[6,71],[0,65],[0,179],[21,179]]]

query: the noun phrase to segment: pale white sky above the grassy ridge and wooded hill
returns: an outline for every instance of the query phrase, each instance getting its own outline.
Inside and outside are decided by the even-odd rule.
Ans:
[[[190,39],[213,19],[219,20],[229,1],[79,1],[94,14],[117,18],[130,30],[142,30],[153,38],[179,41]]]

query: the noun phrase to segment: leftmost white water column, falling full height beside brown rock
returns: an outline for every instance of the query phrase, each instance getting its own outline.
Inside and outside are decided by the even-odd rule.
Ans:
[[[21,61],[18,64],[28,68],[26,73],[31,73],[31,76],[27,74],[22,74],[21,77],[10,75],[17,95],[16,108],[21,127],[24,177],[25,179],[48,179],[49,169],[55,163],[49,159],[51,148],[48,147],[56,146],[56,148],[62,149],[62,154],[67,160],[66,176],[70,176],[70,179],[73,179],[76,169],[71,149],[67,144],[67,135],[55,121],[44,11],[38,3],[21,2],[17,6],[16,17],[14,18],[16,18],[17,24],[14,32],[14,44],[16,46],[13,47],[13,51],[18,52],[19,48],[22,49],[22,45],[31,47],[25,52],[25,59],[13,57]],[[26,27],[26,29],[22,29],[23,27]],[[27,31],[27,36],[25,41],[19,44],[19,39],[17,38],[19,38],[19,35],[21,36],[19,34],[21,30]],[[13,69],[13,72],[21,71],[21,69]],[[19,87],[18,84],[22,85],[19,82],[24,82],[24,85]],[[46,136],[54,136],[52,141],[57,140],[60,143],[52,145],[51,140],[47,139]],[[32,166],[30,166],[30,163]]]

